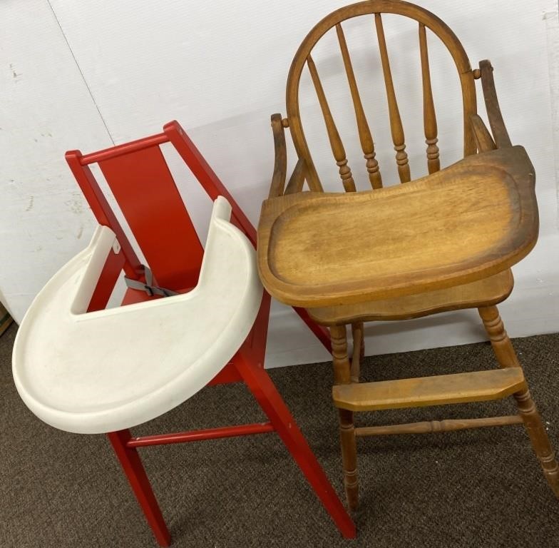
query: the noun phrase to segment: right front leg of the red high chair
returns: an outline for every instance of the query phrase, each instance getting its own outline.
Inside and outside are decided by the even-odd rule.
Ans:
[[[242,352],[235,356],[235,365],[339,531],[344,538],[354,539],[356,532],[352,518],[340,502],[272,379],[262,367],[247,360]]]

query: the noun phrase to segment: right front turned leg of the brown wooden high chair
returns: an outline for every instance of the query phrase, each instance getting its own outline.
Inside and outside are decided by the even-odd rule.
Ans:
[[[511,340],[508,338],[497,307],[480,308],[479,314],[491,340],[499,365],[501,367],[520,367],[520,362],[518,362],[518,357]],[[551,447],[548,433],[545,431],[540,414],[532,400],[528,385],[525,389],[516,392],[514,399],[530,437],[530,442],[532,442],[535,455],[540,461],[543,474],[553,493],[559,498],[559,465],[555,460],[555,453]]]

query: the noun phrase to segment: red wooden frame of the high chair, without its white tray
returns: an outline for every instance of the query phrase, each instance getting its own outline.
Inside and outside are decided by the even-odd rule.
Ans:
[[[111,205],[93,176],[89,168],[92,163],[98,163],[101,168],[138,245],[153,270],[152,284],[159,284],[178,292],[183,292],[196,285],[203,248],[185,204],[180,198],[163,153],[160,151],[160,145],[163,143],[171,143],[175,147],[212,201],[217,196],[227,198],[232,205],[232,223],[240,228],[256,246],[257,233],[254,226],[178,122],[172,121],[165,124],[163,133],[85,156],[80,151],[68,151],[66,153],[68,166],[76,177],[98,223],[110,227],[116,233],[121,245],[120,253],[109,255],[88,310],[101,310],[106,307],[122,270],[128,278],[146,283],[145,267],[140,263]],[[153,181],[157,181],[157,184],[153,184]],[[145,184],[142,185],[142,182]],[[146,213],[149,213],[149,217]],[[158,238],[157,235],[163,226],[173,228],[165,233],[164,238]],[[180,248],[187,249],[188,254],[176,253]],[[184,259],[183,255],[187,256],[187,259]],[[158,297],[149,296],[142,290],[128,288],[123,305],[149,298]],[[330,338],[327,330],[315,324],[305,310],[299,308],[295,308],[295,310],[330,352]],[[297,427],[294,418],[263,367],[269,315],[270,295],[265,291],[252,331],[230,363],[209,383],[215,385],[225,382],[245,382],[267,415],[268,422],[144,437],[133,437],[130,430],[120,430],[108,434],[130,486],[161,546],[169,546],[170,533],[137,448],[265,432],[277,432],[339,531],[345,538],[355,537],[356,532],[352,519],[344,509],[307,444],[307,440]]]

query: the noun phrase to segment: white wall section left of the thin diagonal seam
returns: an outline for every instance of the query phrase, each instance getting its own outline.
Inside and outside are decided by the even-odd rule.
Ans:
[[[91,235],[64,152],[111,140],[48,3],[1,2],[0,21],[0,299],[20,321]]]

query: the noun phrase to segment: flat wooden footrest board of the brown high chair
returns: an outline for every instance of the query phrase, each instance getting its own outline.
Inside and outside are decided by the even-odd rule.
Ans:
[[[447,403],[498,400],[525,387],[520,367],[363,382],[332,388],[334,405],[350,411],[376,411]]]

